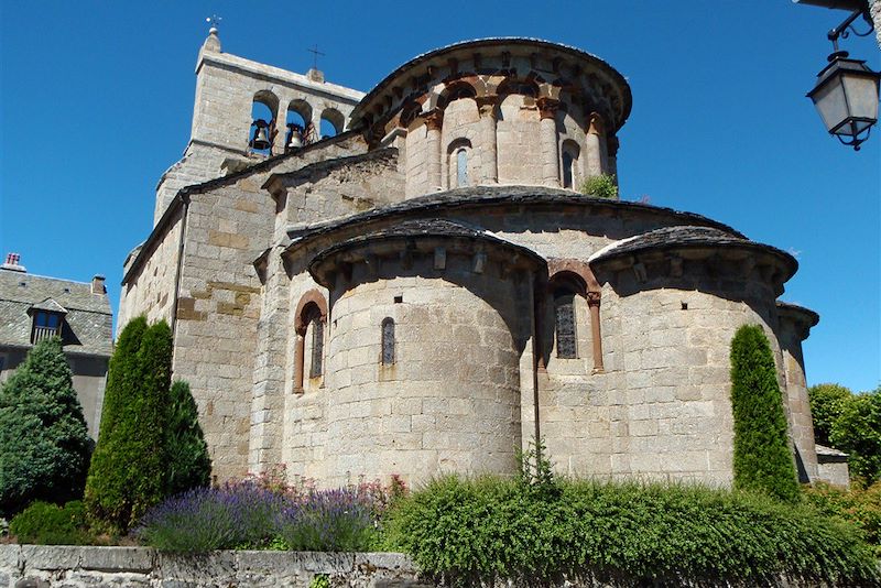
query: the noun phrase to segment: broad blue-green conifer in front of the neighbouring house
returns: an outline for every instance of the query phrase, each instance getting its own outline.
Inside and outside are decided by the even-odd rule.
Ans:
[[[0,389],[0,511],[81,497],[90,451],[62,341],[41,341]]]

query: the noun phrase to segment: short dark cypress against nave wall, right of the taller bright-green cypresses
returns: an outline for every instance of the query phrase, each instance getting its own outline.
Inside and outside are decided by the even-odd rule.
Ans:
[[[166,494],[208,486],[211,476],[208,446],[189,384],[181,380],[171,389],[165,447],[168,455]]]

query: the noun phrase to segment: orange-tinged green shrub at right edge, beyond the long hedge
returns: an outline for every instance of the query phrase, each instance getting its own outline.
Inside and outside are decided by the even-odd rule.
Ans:
[[[822,513],[840,516],[861,529],[875,556],[881,558],[881,481],[867,489],[855,486],[849,490],[815,483],[805,487],[804,494]]]

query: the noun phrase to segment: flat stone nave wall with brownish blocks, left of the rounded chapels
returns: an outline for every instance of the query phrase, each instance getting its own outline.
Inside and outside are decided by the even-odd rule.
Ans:
[[[275,203],[262,186],[271,173],[359,150],[360,138],[340,137],[191,195],[173,370],[191,383],[221,480],[246,473],[248,466],[261,298],[252,263],[269,247],[275,225]],[[175,219],[143,253],[145,261],[123,290],[120,328],[139,314],[171,318],[180,227]]]

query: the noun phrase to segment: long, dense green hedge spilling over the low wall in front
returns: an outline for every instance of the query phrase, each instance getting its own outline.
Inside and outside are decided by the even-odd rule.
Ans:
[[[458,585],[773,584],[879,585],[871,548],[851,525],[802,504],[698,487],[558,481],[543,497],[518,480],[446,477],[395,502],[387,548]]]

